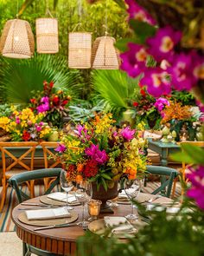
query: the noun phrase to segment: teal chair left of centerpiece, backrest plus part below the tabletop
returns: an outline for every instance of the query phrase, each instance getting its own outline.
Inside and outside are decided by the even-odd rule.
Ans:
[[[16,190],[16,195],[19,203],[23,200],[29,200],[29,195],[22,192],[20,185],[26,181],[39,180],[44,178],[56,178],[45,191],[44,194],[50,194],[55,186],[60,184],[61,168],[48,168],[48,169],[38,169],[35,171],[24,172],[22,174],[16,174],[12,176],[9,180],[9,184]],[[22,242],[22,255],[29,256],[31,253],[35,253],[38,256],[57,256],[59,254],[49,253],[47,251],[40,250],[34,246],[29,246]]]

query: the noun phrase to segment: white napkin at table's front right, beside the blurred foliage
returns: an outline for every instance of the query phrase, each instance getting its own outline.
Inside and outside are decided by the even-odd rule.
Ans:
[[[124,217],[105,216],[105,226],[114,227],[112,233],[136,233],[136,229]]]

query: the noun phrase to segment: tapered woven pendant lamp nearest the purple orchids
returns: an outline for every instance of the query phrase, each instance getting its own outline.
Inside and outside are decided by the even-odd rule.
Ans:
[[[92,45],[92,69],[119,69],[118,50],[111,36],[98,37]]]

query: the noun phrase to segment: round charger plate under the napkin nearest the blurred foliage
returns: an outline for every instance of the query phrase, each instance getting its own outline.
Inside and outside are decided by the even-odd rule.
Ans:
[[[134,226],[135,228],[135,226]],[[105,221],[104,219],[99,219],[99,220],[93,220],[91,223],[88,225],[88,229],[92,233],[96,233],[99,235],[104,235],[105,232],[107,231],[107,227],[105,226]],[[109,233],[108,237],[114,236],[117,237],[118,239],[128,239],[132,238],[136,235],[137,229],[135,228],[136,232],[135,233]]]

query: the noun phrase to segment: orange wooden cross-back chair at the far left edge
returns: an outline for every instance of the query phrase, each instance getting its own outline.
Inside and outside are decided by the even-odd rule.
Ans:
[[[0,150],[2,154],[2,200],[0,205],[0,212],[3,211],[3,206],[6,199],[8,180],[15,174],[20,174],[25,171],[33,170],[35,147],[38,145],[35,141],[29,142],[0,142]],[[25,160],[29,159],[29,163]],[[10,161],[9,161],[10,160]],[[21,167],[13,169],[13,167]],[[34,181],[27,182],[30,195],[34,197]]]

